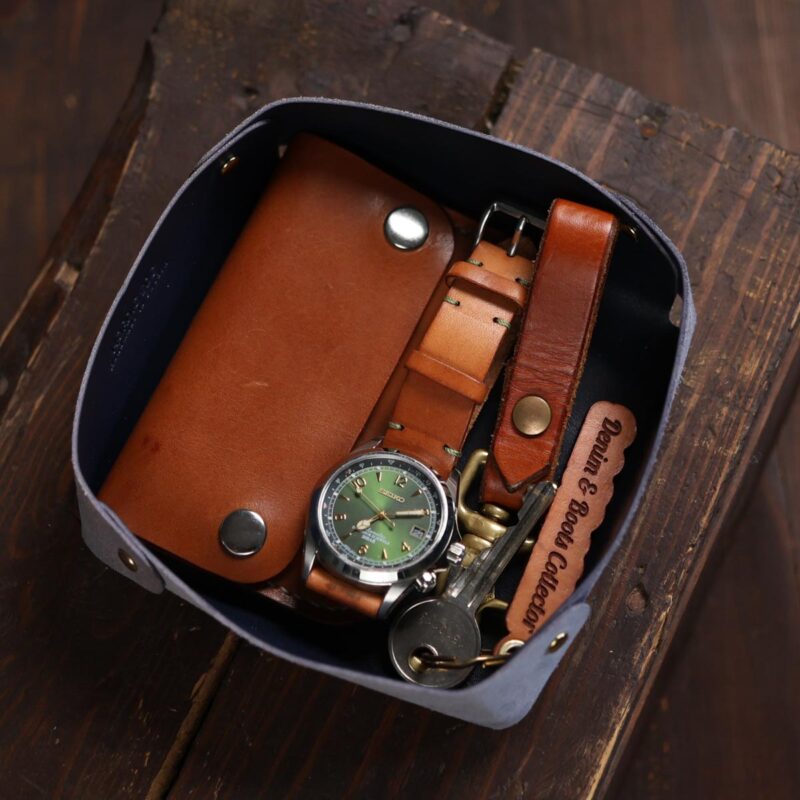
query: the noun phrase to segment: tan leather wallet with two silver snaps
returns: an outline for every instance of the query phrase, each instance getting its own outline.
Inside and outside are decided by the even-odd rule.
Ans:
[[[384,235],[387,214],[406,205],[430,227],[417,250]],[[296,136],[100,499],[198,567],[243,583],[273,578],[301,547],[320,475],[385,429],[398,364],[436,306],[453,248],[451,222],[430,199]],[[245,559],[218,539],[238,508],[267,525],[266,544]]]

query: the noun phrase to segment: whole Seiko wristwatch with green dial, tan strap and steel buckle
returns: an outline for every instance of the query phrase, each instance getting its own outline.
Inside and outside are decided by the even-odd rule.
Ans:
[[[495,212],[517,220],[508,249],[483,240]],[[457,475],[467,433],[497,377],[525,307],[532,261],[516,254],[536,217],[492,204],[475,248],[445,275],[447,294],[405,362],[382,439],[349,454],[314,490],[303,577],[319,595],[383,618],[433,569],[456,535]]]

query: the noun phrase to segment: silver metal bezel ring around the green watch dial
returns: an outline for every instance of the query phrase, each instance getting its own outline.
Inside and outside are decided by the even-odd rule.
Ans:
[[[430,480],[435,488],[439,506],[441,508],[441,519],[434,537],[427,550],[413,562],[400,567],[362,567],[347,561],[328,541],[322,520],[322,499],[327,494],[334,478],[346,469],[348,464],[359,464],[364,461],[391,458],[409,464]],[[366,452],[351,453],[346,459],[340,461],[328,473],[324,482],[319,485],[311,497],[311,507],[309,511],[307,534],[314,543],[316,558],[336,575],[353,583],[362,584],[367,587],[387,587],[399,581],[409,581],[416,578],[426,569],[436,564],[444,555],[450,539],[452,537],[455,520],[455,503],[453,493],[448,484],[426,464],[413,456],[399,453],[395,450],[385,450],[382,448],[371,449]]]

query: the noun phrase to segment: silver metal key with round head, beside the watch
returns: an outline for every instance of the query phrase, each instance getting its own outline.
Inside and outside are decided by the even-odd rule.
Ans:
[[[548,482],[531,487],[513,527],[469,567],[452,576],[439,597],[420,600],[400,614],[389,633],[389,656],[403,678],[420,686],[449,688],[472,672],[471,664],[426,668],[420,655],[452,658],[459,663],[480,655],[481,632],[475,613],[547,510],[555,491],[555,484]]]

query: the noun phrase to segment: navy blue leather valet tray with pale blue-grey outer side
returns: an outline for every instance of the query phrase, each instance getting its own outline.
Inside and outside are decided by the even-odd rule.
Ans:
[[[212,578],[134,536],[98,499],[270,185],[284,146],[303,133],[355,153],[465,218],[480,218],[496,200],[543,215],[561,197],[610,211],[637,231],[635,238],[621,236],[617,243],[564,451],[571,449],[581,421],[598,400],[628,406],[637,419],[638,438],[626,453],[575,593],[507,664],[464,688],[402,682],[386,657],[385,627],[321,624],[242,585]],[[228,170],[223,165],[230,165],[232,156],[239,166]],[[308,224],[313,233],[314,220]],[[276,287],[285,266],[264,267],[276,271]],[[680,319],[675,319],[676,298],[682,298]],[[161,216],[108,313],[86,368],[73,434],[83,537],[112,569],[149,591],[173,592],[267,652],[453,717],[507,727],[530,710],[591,613],[591,589],[647,490],[693,328],[688,275],[675,247],[629,201],[570,167],[490,136],[390,109],[318,99],[273,103],[203,158]],[[496,398],[487,404],[465,452],[487,443],[494,411]],[[568,635],[566,645],[549,652],[548,644],[562,632]]]

